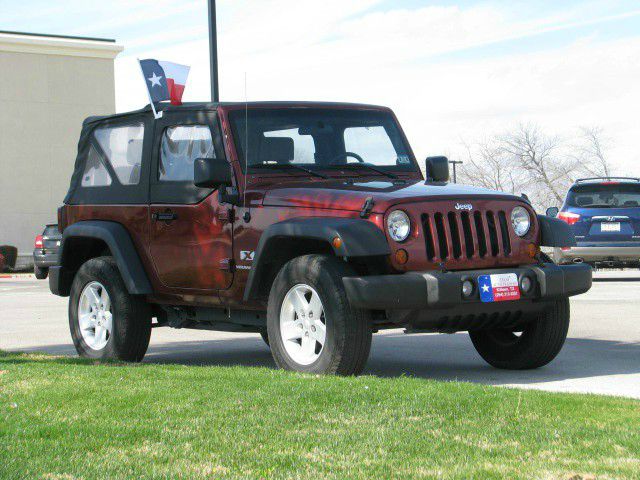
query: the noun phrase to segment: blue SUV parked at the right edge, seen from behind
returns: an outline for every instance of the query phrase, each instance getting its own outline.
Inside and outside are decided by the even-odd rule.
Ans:
[[[561,209],[547,214],[571,226],[577,244],[554,249],[559,264],[640,267],[640,179],[585,178],[569,189]]]

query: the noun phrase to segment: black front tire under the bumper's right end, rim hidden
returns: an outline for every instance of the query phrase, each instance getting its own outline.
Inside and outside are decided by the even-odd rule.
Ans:
[[[569,317],[569,299],[564,298],[527,324],[519,337],[506,330],[477,330],[469,332],[469,336],[480,356],[496,368],[539,368],[560,353],[567,338]]]

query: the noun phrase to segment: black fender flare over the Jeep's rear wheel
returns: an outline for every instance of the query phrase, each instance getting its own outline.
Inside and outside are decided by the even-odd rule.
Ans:
[[[149,295],[153,293],[151,282],[138,256],[131,235],[127,229],[116,222],[103,220],[85,220],[76,222],[64,229],[60,245],[60,268],[64,271],[65,260],[73,252],[68,248],[70,238],[94,238],[107,244],[113,255],[127,291],[132,295]],[[62,278],[63,275],[60,275]]]

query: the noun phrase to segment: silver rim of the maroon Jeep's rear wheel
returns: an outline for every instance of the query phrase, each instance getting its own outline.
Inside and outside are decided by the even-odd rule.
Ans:
[[[85,285],[78,301],[78,324],[80,334],[87,346],[102,350],[113,331],[111,298],[100,282]]]

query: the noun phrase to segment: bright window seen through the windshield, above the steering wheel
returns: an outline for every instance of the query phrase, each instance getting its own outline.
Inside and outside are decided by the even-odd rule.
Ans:
[[[365,162],[375,165],[396,165],[398,163],[396,149],[391,143],[389,134],[382,126],[346,128],[344,147],[347,152],[357,153]]]

